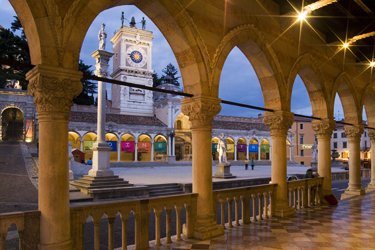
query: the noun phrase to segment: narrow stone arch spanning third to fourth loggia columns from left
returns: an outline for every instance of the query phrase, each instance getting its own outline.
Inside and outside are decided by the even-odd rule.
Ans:
[[[288,104],[291,105],[292,90],[297,74],[299,74],[302,78],[305,88],[309,94],[313,116],[332,118],[333,112],[329,112],[329,108],[327,106],[328,97],[324,87],[324,81],[321,78],[323,74],[321,73],[316,60],[311,54],[304,54],[298,57],[289,72],[287,80]]]

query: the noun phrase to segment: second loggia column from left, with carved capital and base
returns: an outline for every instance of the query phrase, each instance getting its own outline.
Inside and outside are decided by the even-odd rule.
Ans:
[[[198,239],[224,233],[216,224],[212,196],[212,121],[220,109],[217,98],[198,96],[182,100],[181,110],[191,122],[193,193],[198,193],[194,237]]]

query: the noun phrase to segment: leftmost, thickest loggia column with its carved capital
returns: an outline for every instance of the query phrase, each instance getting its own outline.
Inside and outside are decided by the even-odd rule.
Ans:
[[[39,118],[40,246],[71,249],[68,122],[72,100],[82,91],[82,73],[47,65],[30,70],[28,92]]]

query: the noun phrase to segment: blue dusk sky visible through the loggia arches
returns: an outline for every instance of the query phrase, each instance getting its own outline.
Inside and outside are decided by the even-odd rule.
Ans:
[[[0,25],[10,28],[14,20],[15,12],[7,0],[0,0]],[[98,31],[102,23],[106,24],[107,44],[106,50],[111,51],[110,39],[121,26],[121,12],[124,11],[126,24],[132,16],[135,17],[137,27],[140,27],[139,21],[142,17],[146,19],[146,29],[154,34],[153,41],[153,69],[158,75],[162,74],[162,69],[172,63],[178,68],[176,58],[163,34],[157,26],[143,12],[132,5],[115,7],[100,13],[87,31],[85,40],[82,44],[81,59],[88,65],[94,65],[95,61],[91,58],[91,53],[98,49]],[[93,68],[93,67],[92,67]],[[110,69],[111,71],[111,69]],[[110,91],[108,91],[110,93]],[[220,78],[219,97],[228,101],[246,103],[254,106],[264,107],[263,96],[259,80],[244,54],[234,48],[225,61],[222,75]],[[311,105],[306,88],[299,76],[295,80],[292,93],[292,112],[303,115],[311,115]],[[257,116],[261,113],[258,110],[244,109],[229,105],[222,105],[222,115],[233,116]],[[342,119],[343,111],[340,99],[336,95],[335,99],[335,118]]]

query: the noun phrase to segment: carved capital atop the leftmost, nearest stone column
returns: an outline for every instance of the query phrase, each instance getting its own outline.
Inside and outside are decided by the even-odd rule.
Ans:
[[[37,65],[26,74],[28,93],[34,97],[39,117],[46,113],[68,119],[73,98],[82,91],[77,70]]]

